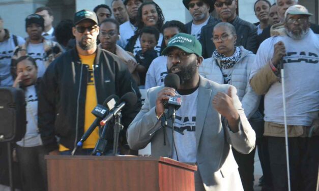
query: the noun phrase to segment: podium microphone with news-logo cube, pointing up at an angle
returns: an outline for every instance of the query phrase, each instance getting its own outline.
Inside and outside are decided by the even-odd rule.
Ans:
[[[81,147],[83,145],[83,142],[88,139],[95,128],[99,126],[100,121],[108,114],[108,111],[111,111],[115,107],[119,100],[120,99],[117,95],[110,95],[108,98],[105,99],[103,105],[98,104],[93,109],[92,114],[95,115],[97,118],[94,120],[90,128],[83,134],[80,141],[77,143],[78,147]]]

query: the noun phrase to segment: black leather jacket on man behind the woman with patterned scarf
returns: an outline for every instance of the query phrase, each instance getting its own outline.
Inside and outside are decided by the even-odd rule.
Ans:
[[[213,35],[213,29],[216,24],[221,22],[217,20],[212,24],[208,24],[201,28],[200,43],[202,46],[202,57],[209,58],[212,56],[215,48],[213,41],[211,40]],[[236,28],[237,41],[235,46],[243,46],[245,49],[257,52],[257,27],[250,22],[247,22],[238,16],[231,22]]]

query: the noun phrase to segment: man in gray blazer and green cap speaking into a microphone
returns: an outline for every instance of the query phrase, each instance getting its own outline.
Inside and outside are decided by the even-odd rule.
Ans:
[[[244,114],[236,88],[198,74],[203,60],[201,45],[191,35],[180,33],[173,37],[163,55],[168,56],[168,73],[179,76],[179,87],[148,90],[142,109],[127,130],[129,146],[141,149],[151,142],[152,156],[196,164],[196,190],[243,190],[230,146],[249,153],[255,146],[255,132]],[[182,102],[172,133],[164,102],[176,95],[181,96]],[[162,122],[164,116],[168,128],[162,128],[166,124]]]

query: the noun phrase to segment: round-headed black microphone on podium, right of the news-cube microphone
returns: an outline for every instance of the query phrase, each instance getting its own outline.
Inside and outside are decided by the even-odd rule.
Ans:
[[[125,107],[126,109],[133,107],[137,102],[137,96],[133,92],[125,93],[120,99],[120,104],[116,106],[109,114],[100,121],[100,125],[105,125],[108,121],[110,121],[115,115],[122,111]]]

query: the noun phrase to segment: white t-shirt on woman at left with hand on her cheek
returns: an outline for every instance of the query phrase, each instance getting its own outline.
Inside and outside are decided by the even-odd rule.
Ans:
[[[21,147],[35,147],[42,145],[42,140],[38,132],[38,97],[34,85],[25,89],[26,102],[26,132],[25,136],[17,144]]]

